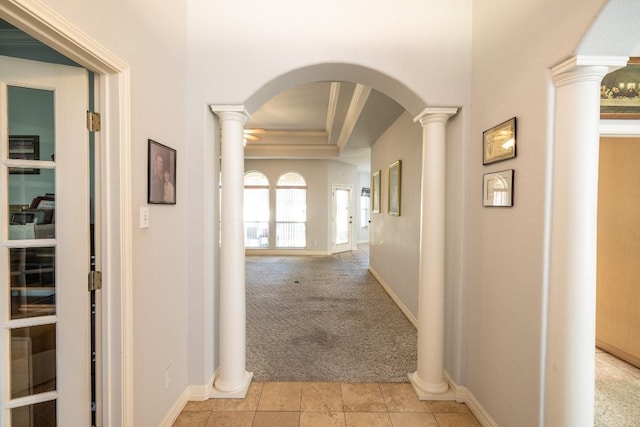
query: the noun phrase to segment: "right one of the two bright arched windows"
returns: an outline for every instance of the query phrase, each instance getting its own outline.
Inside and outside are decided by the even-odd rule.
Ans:
[[[307,184],[295,172],[281,175],[276,185],[276,247],[307,247]]]

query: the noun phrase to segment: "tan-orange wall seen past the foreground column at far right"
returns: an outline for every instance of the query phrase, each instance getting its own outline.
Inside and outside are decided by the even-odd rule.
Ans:
[[[600,140],[596,342],[640,366],[640,138]]]

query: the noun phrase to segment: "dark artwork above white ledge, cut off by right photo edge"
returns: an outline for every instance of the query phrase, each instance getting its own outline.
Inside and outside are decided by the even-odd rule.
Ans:
[[[600,84],[600,117],[640,119],[640,57],[609,73]]]

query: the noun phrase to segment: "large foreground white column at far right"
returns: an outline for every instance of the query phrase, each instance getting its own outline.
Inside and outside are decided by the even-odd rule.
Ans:
[[[552,70],[556,111],[544,423],[549,426],[594,421],[600,82],[609,65],[624,62],[574,57]]]

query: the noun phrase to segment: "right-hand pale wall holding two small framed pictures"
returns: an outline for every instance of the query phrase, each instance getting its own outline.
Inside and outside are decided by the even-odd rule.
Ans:
[[[554,108],[550,68],[572,54],[604,2],[578,8],[570,3],[474,3],[465,183],[466,385],[499,425],[540,425],[543,410],[545,227]],[[482,132],[514,116],[517,158],[483,166]],[[514,207],[482,207],[482,175],[504,169],[515,169]]]

